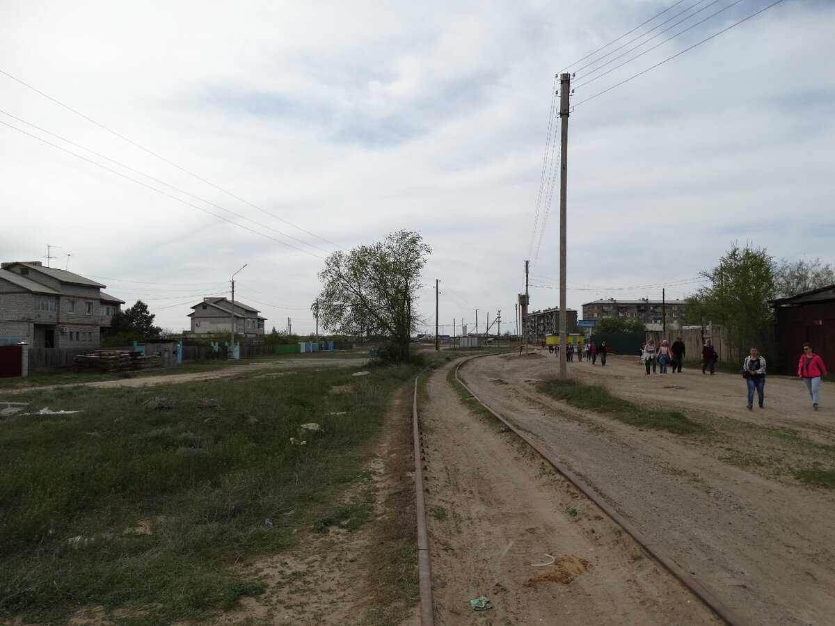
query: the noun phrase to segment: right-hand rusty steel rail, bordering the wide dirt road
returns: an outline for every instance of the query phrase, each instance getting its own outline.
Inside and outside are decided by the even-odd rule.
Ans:
[[[565,467],[562,462],[559,462],[556,458],[554,458],[548,451],[546,451],[543,447],[539,446],[537,442],[534,442],[533,439],[528,437],[524,434],[524,432],[519,431],[513,424],[508,422],[504,419],[503,416],[499,415],[497,411],[493,411],[493,408],[488,406],[481,398],[476,396],[473,393],[473,390],[470,389],[464,381],[462,381],[458,377],[458,371],[461,367],[466,364],[468,361],[472,361],[473,359],[477,359],[480,356],[490,356],[490,355],[478,355],[478,356],[470,356],[467,359],[458,363],[458,366],[455,367],[455,380],[463,386],[467,392],[475,398],[475,400],[483,406],[487,411],[489,411],[493,416],[498,419],[499,422],[502,422],[506,427],[509,428],[510,431],[514,432],[514,434],[519,437],[522,441],[527,443],[530,447],[534,448],[540,457],[542,457],[546,462],[549,463],[554,469],[562,474],[566,480],[568,480],[574,487],[577,487],[580,492],[584,494],[585,497],[588,497],[592,502],[600,508],[601,511],[605,512],[610,519],[615,522],[620,528],[623,528],[627,534],[637,542],[644,551],[650,555],[650,558],[655,560],[655,563],[658,563],[662,568],[665,568],[669,573],[675,576],[681,584],[683,584],[686,588],[688,588],[696,598],[699,598],[702,603],[705,604],[707,608],[710,608],[713,613],[716,614],[718,618],[721,618],[728,626],[749,626],[749,623],[746,622],[741,616],[739,616],[735,611],[731,608],[728,608],[725,603],[722,603],[721,600],[716,598],[710,591],[708,591],[695,577],[691,575],[691,573],[686,572],[681,566],[672,560],[672,558],[666,556],[664,553],[658,548],[655,548],[655,545],[650,542],[648,538],[646,538],[643,533],[641,533],[635,526],[630,523],[625,517],[623,517],[619,512],[615,511],[609,502],[606,502],[604,498],[600,497],[589,485],[587,485],[580,477],[578,477],[574,472],[571,472],[568,467]],[[417,382],[416,387],[417,390]],[[417,393],[415,396],[417,407]],[[417,411],[417,408],[416,408]],[[422,494],[423,495],[423,494]]]

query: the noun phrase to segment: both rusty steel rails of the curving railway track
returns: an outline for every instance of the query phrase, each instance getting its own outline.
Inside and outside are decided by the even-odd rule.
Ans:
[[[561,477],[571,483],[574,488],[587,498],[597,507],[600,512],[609,517],[612,522],[617,524],[624,533],[629,535],[635,543],[640,546],[640,549],[661,568],[664,568],[674,578],[676,578],[689,592],[697,598],[716,618],[721,622],[729,624],[730,626],[747,626],[747,622],[741,618],[733,609],[726,606],[718,598],[716,598],[710,591],[708,591],[699,581],[696,580],[690,573],[681,568],[672,558],[665,553],[662,553],[653,543],[651,543],[635,526],[630,523],[623,515],[615,510],[614,507],[606,502],[603,497],[600,497],[588,484],[586,484],[576,473],[571,472],[564,463],[555,458],[544,447],[541,447],[531,437],[520,431],[517,427],[504,418],[498,411],[495,411],[492,406],[489,406],[481,398],[479,398],[470,387],[461,379],[459,372],[462,367],[473,359],[481,358],[479,355],[469,357],[460,361],[455,366],[454,377],[459,385],[465,389],[475,401],[489,411],[499,422],[504,425],[509,432],[513,432],[515,437],[518,437],[524,445],[536,452],[544,462],[554,469]],[[422,374],[421,376],[425,376]],[[419,413],[417,403],[418,381],[420,376],[415,380],[414,396],[412,403],[412,430],[414,441],[414,458],[415,458],[415,488],[416,488],[416,502],[417,502],[417,562],[419,572],[419,587],[420,587],[420,620],[423,626],[433,626],[434,624],[434,610],[433,610],[433,583],[432,583],[432,564],[430,559],[431,540],[428,533],[427,511],[424,498],[426,487],[424,485],[424,472],[426,471],[426,451],[423,447],[423,436],[419,428]]]

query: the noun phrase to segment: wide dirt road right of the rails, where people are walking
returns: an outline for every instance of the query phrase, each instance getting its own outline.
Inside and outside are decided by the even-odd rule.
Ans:
[[[637,357],[570,376],[651,406],[696,411],[706,437],[642,430],[539,394],[554,357],[491,356],[463,376],[473,392],[583,476],[717,598],[756,624],[828,624],[835,615],[835,494],[787,467],[832,463],[835,404],[812,412],[802,382],[770,377],[766,408],[747,411],[741,377],[645,376]],[[831,467],[831,465],[829,466]]]

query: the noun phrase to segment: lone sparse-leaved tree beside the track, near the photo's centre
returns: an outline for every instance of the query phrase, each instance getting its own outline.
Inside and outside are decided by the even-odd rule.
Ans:
[[[383,360],[407,361],[417,328],[412,307],[431,253],[421,235],[408,230],[348,253],[334,252],[319,272],[322,290],[311,310],[328,330],[382,336],[386,343],[377,355]]]

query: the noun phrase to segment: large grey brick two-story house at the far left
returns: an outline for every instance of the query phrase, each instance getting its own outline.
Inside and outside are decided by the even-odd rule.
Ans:
[[[124,300],[106,285],[40,261],[0,265],[0,337],[34,347],[97,348]]]

